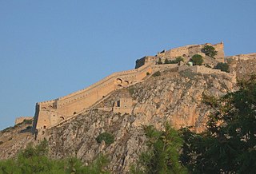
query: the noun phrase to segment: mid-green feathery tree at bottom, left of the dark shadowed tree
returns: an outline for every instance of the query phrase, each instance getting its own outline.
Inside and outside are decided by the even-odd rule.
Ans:
[[[138,164],[130,168],[131,173],[187,173],[179,161],[183,140],[178,131],[168,124],[165,131],[153,126],[144,127],[144,131],[148,150],[141,154]]]

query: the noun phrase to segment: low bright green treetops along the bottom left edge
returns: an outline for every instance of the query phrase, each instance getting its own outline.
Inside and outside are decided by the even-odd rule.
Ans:
[[[18,158],[0,160],[0,173],[74,173],[74,174],[98,174],[110,173],[103,168],[108,164],[106,156],[98,156],[90,166],[83,166],[82,161],[70,157],[63,160],[50,159],[47,156],[47,142],[43,141],[38,146],[29,144],[28,147],[18,154]]]

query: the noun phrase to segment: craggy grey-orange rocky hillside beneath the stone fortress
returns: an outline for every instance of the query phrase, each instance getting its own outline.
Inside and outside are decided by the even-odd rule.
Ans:
[[[232,65],[235,65],[233,70],[243,74],[239,67],[253,69],[255,60],[235,61]],[[114,91],[94,109],[48,129],[46,139],[49,140],[50,156],[77,156],[89,164],[99,154],[106,154],[110,159],[110,171],[126,173],[130,164],[146,150],[142,125],[162,129],[170,122],[177,129],[192,125],[195,132],[202,132],[210,113],[209,106],[202,103],[202,95],[218,97],[236,89],[234,81],[225,73],[193,73],[190,69],[161,71],[141,83]],[[131,114],[104,111],[120,97],[133,99]],[[34,142],[34,136],[27,132],[28,126],[22,123],[0,132],[1,159],[15,156],[19,149]],[[96,138],[103,132],[114,135],[114,142],[99,143]]]

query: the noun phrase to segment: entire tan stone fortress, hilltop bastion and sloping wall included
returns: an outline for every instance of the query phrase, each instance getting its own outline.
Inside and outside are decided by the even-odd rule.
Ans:
[[[96,104],[105,100],[115,90],[126,88],[143,81],[146,77],[149,77],[150,74],[159,70],[173,68],[182,70],[188,67],[187,65],[179,64],[156,65],[158,60],[173,60],[175,57],[183,57],[185,62],[187,62],[194,54],[200,54],[205,58],[205,62],[209,65],[216,65],[218,62],[224,61],[224,45],[222,42],[212,45],[215,50],[218,51],[215,59],[202,53],[201,49],[204,45],[211,44],[186,45],[168,51],[163,50],[155,56],[142,57],[136,61],[135,69],[112,73],[110,76],[103,78],[94,85],[70,93],[65,97],[59,97],[51,101],[38,102],[35,107],[33,132],[36,133],[38,137],[42,136],[45,134],[46,129],[50,129],[62,121],[76,117],[79,113],[94,108]],[[194,68],[194,71],[197,73],[223,73],[217,69],[209,70],[209,68],[206,68],[205,66]],[[115,102],[112,110],[117,113],[130,113],[132,103],[133,101],[130,98],[121,98],[119,101]]]

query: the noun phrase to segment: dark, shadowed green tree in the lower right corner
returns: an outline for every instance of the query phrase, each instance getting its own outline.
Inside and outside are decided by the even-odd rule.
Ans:
[[[183,129],[182,164],[192,173],[255,173],[256,76],[214,101],[206,132]]]

